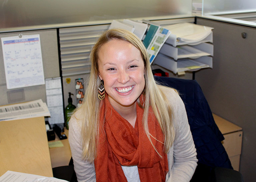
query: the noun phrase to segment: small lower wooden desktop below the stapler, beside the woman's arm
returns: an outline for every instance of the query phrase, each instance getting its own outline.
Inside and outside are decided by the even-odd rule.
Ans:
[[[66,128],[64,133],[68,137],[68,130]],[[58,141],[58,140],[60,139],[55,133],[55,140],[53,141]],[[49,141],[49,142],[53,142],[53,141]],[[63,143],[64,145],[63,147],[50,148],[51,162],[52,162],[53,168],[58,166],[67,166],[71,159],[71,151],[70,151],[68,138],[60,141]]]

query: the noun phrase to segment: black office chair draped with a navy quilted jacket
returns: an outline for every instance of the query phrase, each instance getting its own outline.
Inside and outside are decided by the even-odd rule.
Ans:
[[[191,179],[195,181],[243,182],[240,172],[233,170],[221,141],[210,106],[195,80],[154,77],[160,85],[176,89],[183,100],[197,150],[198,166]]]

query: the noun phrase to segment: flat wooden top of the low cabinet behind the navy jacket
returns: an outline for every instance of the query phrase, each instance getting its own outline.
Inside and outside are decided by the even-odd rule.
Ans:
[[[223,119],[222,117],[220,117],[216,114],[212,114],[212,115],[215,120],[215,123],[217,124],[217,126],[222,134],[227,134],[227,133],[232,133],[235,131],[242,130],[241,127],[233,124],[232,122],[229,122],[226,119]]]

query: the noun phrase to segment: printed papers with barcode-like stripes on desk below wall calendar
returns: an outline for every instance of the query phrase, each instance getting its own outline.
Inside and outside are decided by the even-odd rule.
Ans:
[[[50,116],[46,103],[42,99],[30,102],[0,106],[0,121]]]

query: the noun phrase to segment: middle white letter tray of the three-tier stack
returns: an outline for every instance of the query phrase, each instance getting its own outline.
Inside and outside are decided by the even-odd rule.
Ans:
[[[182,45],[173,47],[165,43],[159,53],[172,57],[174,60],[182,58],[194,59],[202,56],[213,56],[213,45],[201,43],[195,46]]]

